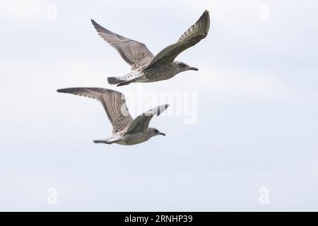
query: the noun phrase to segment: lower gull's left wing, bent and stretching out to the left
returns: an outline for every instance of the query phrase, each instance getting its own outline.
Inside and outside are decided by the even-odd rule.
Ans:
[[[126,131],[133,119],[126,107],[126,100],[122,93],[104,88],[65,88],[57,90],[59,93],[72,93],[99,100],[112,123],[113,133]]]

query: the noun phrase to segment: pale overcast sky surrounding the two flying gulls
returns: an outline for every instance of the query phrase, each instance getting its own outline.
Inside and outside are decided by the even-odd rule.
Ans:
[[[0,210],[318,210],[317,1],[0,3]],[[90,18],[156,54],[205,9],[208,36],[177,57],[199,71],[107,84],[129,66]],[[56,93],[76,86],[125,93],[133,117],[170,103],[151,121],[167,136],[93,143],[112,127]]]

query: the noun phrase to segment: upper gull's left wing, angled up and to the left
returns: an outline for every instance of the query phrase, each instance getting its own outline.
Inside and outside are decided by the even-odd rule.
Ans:
[[[122,35],[117,35],[116,33],[103,28],[96,23],[95,20],[92,19],[91,21],[97,30],[98,35],[119,52],[122,59],[131,66],[132,70],[146,66],[153,59],[154,56],[146,47],[146,44],[131,40]]]

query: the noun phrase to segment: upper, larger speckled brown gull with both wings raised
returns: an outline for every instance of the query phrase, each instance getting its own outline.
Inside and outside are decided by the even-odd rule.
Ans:
[[[199,20],[186,30],[177,42],[165,47],[154,56],[145,44],[111,32],[93,19],[91,22],[98,35],[114,47],[122,59],[131,66],[131,71],[124,76],[107,78],[108,83],[111,85],[117,84],[117,86],[162,81],[170,79],[182,71],[198,71],[196,67],[175,61],[175,58],[185,49],[204,39],[210,28],[210,16],[208,11],[204,11]]]

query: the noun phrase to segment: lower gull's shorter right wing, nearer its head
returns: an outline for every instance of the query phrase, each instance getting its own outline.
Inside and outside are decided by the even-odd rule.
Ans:
[[[136,117],[136,119],[131,122],[126,133],[142,133],[143,131],[146,131],[153,116],[158,116],[164,112],[167,107],[169,107],[169,105],[161,105],[150,109],[147,112],[143,112],[143,114],[139,115],[139,117]]]

